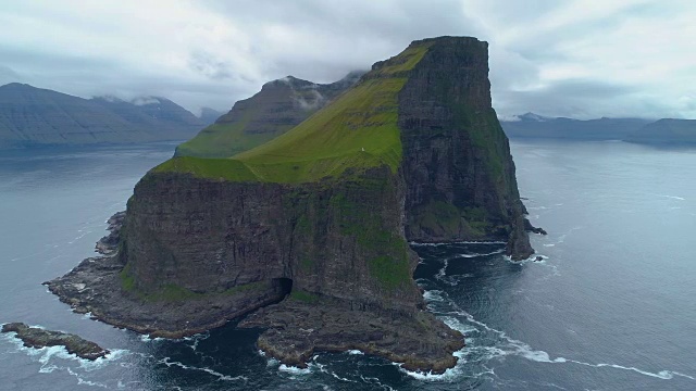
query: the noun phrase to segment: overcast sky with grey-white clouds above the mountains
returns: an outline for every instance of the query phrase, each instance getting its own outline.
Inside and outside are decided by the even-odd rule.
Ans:
[[[414,39],[489,42],[494,106],[696,118],[693,0],[7,0],[0,85],[227,111],[286,75],[339,79]]]

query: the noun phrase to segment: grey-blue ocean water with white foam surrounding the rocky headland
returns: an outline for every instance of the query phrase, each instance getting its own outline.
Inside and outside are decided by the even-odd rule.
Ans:
[[[234,323],[150,340],[90,320],[40,283],[94,254],[104,220],[174,143],[0,153],[0,323],[78,333],[95,363],[0,336],[0,390],[694,390],[696,151],[513,141],[542,262],[500,243],[417,245],[428,307],[464,332],[460,363],[410,374],[360,352],[309,369],[254,348]]]

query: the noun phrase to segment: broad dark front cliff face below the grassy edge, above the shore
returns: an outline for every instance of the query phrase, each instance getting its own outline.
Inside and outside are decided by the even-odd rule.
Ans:
[[[356,308],[413,311],[420,294],[393,207],[402,203],[396,179],[386,168],[302,185],[151,175],[128,203],[121,256],[145,294],[265,281]]]

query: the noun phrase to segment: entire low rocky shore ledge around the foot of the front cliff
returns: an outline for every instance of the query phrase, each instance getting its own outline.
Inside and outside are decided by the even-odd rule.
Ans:
[[[264,329],[258,348],[286,365],[307,367],[315,352],[359,350],[400,363],[405,369],[442,374],[457,364],[453,352],[464,337],[438,321],[431,313],[413,314],[351,308],[331,298],[307,302],[277,292],[249,303],[248,295],[204,294],[173,301],[148,301],[123,289],[117,256],[122,212],[112,216],[110,235],[97,243],[103,256],[84,260],[65,276],[44,282],[75,313],[89,314],[115,327],[151,337],[182,338],[221,327],[244,315],[238,327]],[[238,300],[236,300],[238,299]],[[258,308],[256,312],[247,308]],[[239,310],[245,308],[245,310]],[[250,314],[249,314],[250,313]],[[183,314],[196,314],[195,317]],[[424,332],[427,331],[427,332]]]

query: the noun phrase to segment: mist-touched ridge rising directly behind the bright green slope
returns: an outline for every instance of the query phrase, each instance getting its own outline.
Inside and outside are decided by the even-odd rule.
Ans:
[[[229,157],[283,135],[352,87],[362,72],[332,84],[293,76],[266,83],[176,149],[176,156]]]

